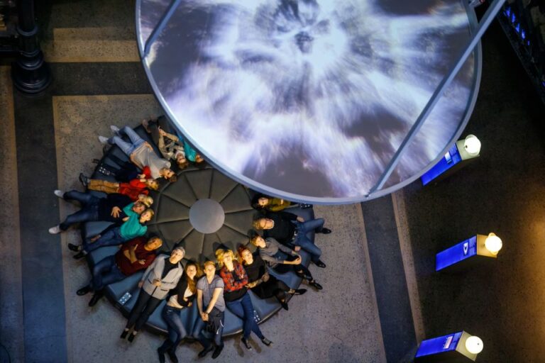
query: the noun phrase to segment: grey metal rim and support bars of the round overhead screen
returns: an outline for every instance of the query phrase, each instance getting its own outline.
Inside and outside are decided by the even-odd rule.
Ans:
[[[143,67],[145,69],[145,73],[148,76],[148,80],[150,81],[150,84],[153,88],[153,91],[155,92],[155,96],[160,101],[160,104],[163,106],[165,112],[167,113],[167,116],[173,121],[173,123],[177,124],[177,118],[172,114],[172,111],[170,110],[170,107],[167,104],[167,101],[165,101],[163,95],[160,92],[160,89],[158,88],[158,85],[155,83],[153,79],[153,74],[151,74],[150,67],[146,65],[145,57],[148,55],[148,52],[150,50],[151,45],[156,40],[158,35],[161,33],[161,31],[165,28],[167,25],[170,17],[174,13],[174,11],[177,9],[177,6],[180,5],[182,0],[173,0],[170,3],[170,6],[167,6],[167,9],[165,13],[163,13],[163,16],[160,18],[160,21],[158,22],[158,25],[153,28],[152,33],[150,34],[148,40],[143,44],[141,41],[141,23],[139,19],[141,18],[141,4],[144,0],[137,0],[136,1],[136,34],[137,34],[137,41],[138,41],[138,50],[141,55],[141,60],[143,62]],[[373,186],[372,189],[368,192],[365,196],[356,196],[356,197],[348,197],[348,198],[321,198],[321,197],[311,197],[311,196],[302,196],[299,194],[293,194],[287,191],[282,191],[279,189],[272,188],[270,186],[265,186],[264,184],[259,183],[258,181],[255,181],[249,177],[246,177],[242,175],[239,172],[235,172],[231,170],[229,167],[225,167],[224,165],[219,162],[219,160],[215,160],[213,157],[209,157],[207,155],[206,150],[202,150],[202,152],[207,155],[207,160],[214,165],[217,169],[221,170],[222,172],[225,172],[228,174],[231,178],[235,179],[236,181],[240,182],[241,184],[251,186],[252,189],[255,189],[257,191],[261,191],[265,194],[280,196],[285,199],[289,199],[291,201],[298,201],[298,202],[304,202],[304,203],[315,203],[315,204],[342,204],[342,203],[356,203],[360,201],[367,201],[370,199],[375,199],[380,196],[385,196],[387,194],[392,193],[393,191],[396,191],[398,189],[402,189],[404,186],[407,186],[408,184],[412,183],[416,179],[422,176],[425,172],[427,172],[431,167],[436,164],[436,162],[439,162],[441,158],[444,156],[445,152],[451,147],[451,145],[456,142],[456,140],[459,138],[461,133],[463,132],[463,129],[466,127],[469,118],[471,116],[471,113],[473,112],[473,108],[475,106],[475,101],[477,99],[478,95],[478,89],[480,84],[480,77],[481,77],[481,71],[482,71],[482,55],[481,55],[481,47],[480,47],[480,38],[485,33],[485,30],[490,26],[490,23],[495,18],[497,13],[500,11],[501,7],[505,3],[505,0],[493,0],[492,4],[490,4],[488,10],[486,11],[485,15],[481,19],[480,22],[478,22],[477,17],[475,15],[475,11],[473,11],[472,8],[468,5],[467,1],[463,1],[463,6],[466,8],[466,13],[468,15],[469,20],[469,26],[470,30],[472,32],[472,35],[470,36],[470,40],[466,47],[463,49],[463,52],[461,52],[461,55],[458,57],[458,60],[454,63],[454,65],[449,69],[448,73],[444,76],[444,79],[441,81],[441,83],[436,87],[434,94],[429,99],[428,103],[420,113],[420,116],[417,118],[417,121],[415,121],[412,125],[412,127],[409,130],[409,133],[405,136],[402,144],[400,147],[397,148],[397,151],[390,159],[390,162],[387,164],[385,169],[382,171],[381,177],[378,179],[378,182]],[[475,60],[475,67],[473,68],[473,77],[475,79],[475,82],[473,84],[473,89],[470,90],[470,96],[469,96],[469,102],[468,106],[466,107],[466,111],[463,113],[463,119],[461,123],[458,125],[458,128],[456,129],[456,132],[453,134],[453,137],[451,138],[450,142],[444,147],[444,149],[439,153],[439,155],[429,162],[429,164],[424,167],[420,172],[415,173],[412,175],[412,177],[409,177],[407,179],[404,179],[400,181],[399,183],[388,186],[385,189],[382,189],[382,186],[387,182],[392,172],[395,170],[395,167],[397,166],[398,162],[400,161],[403,153],[407,150],[407,146],[410,145],[410,142],[413,140],[414,136],[417,135],[418,130],[422,127],[424,122],[426,121],[426,117],[429,116],[429,113],[433,110],[435,104],[439,99],[441,98],[441,95],[443,94],[444,90],[447,88],[449,84],[451,84],[451,81],[454,77],[456,77],[456,74],[463,66],[464,62],[468,59],[468,57],[473,54],[474,60]],[[190,143],[193,143],[194,145],[197,145],[198,143],[195,143],[195,140],[192,138],[191,135],[185,134],[185,137],[189,140]]]

